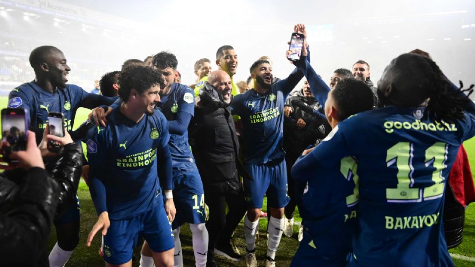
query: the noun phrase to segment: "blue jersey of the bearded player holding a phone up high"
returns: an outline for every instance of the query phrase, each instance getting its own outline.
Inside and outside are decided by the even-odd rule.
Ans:
[[[260,165],[284,158],[285,99],[302,77],[302,72],[295,69],[264,94],[251,89],[234,97],[231,110],[241,117],[241,147],[247,164]]]

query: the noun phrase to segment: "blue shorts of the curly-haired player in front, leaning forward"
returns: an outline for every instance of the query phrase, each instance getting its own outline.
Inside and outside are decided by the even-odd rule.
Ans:
[[[101,251],[108,264],[120,265],[132,259],[139,235],[153,252],[164,252],[174,247],[172,227],[163,205],[125,220],[111,220],[107,234],[102,236]]]

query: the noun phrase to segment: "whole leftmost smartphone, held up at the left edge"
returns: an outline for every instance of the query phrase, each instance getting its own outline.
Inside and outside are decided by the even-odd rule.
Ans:
[[[1,154],[4,161],[12,151],[26,150],[28,137],[27,111],[22,108],[1,110]]]

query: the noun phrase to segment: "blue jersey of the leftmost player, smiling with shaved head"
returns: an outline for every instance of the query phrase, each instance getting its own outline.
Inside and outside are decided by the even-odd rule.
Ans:
[[[109,105],[114,100],[88,93],[76,85],[66,85],[66,88],[51,93],[41,89],[35,82],[22,84],[11,90],[8,99],[9,108],[24,108],[28,111],[29,129],[36,132],[38,143],[48,122],[48,112],[63,113],[64,128],[70,132],[79,107],[94,108]]]

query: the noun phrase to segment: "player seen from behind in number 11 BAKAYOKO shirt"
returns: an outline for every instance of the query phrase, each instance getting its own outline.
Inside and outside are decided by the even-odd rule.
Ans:
[[[306,156],[314,171],[334,170],[347,157],[358,163],[349,266],[453,266],[440,216],[459,146],[475,135],[475,104],[417,54],[390,62],[378,96],[381,108],[340,122]]]

